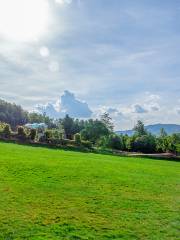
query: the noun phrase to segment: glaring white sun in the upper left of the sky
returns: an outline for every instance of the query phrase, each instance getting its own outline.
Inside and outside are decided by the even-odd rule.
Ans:
[[[0,37],[35,41],[45,34],[48,22],[47,0],[0,0]]]

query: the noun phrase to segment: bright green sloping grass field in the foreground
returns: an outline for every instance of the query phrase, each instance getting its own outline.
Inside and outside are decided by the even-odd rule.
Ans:
[[[0,239],[180,239],[180,163],[0,143]]]

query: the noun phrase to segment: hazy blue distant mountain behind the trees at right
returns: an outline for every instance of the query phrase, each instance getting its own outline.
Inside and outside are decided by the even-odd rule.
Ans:
[[[148,132],[151,132],[152,134],[158,135],[160,133],[161,128],[164,128],[164,130],[168,134],[173,133],[180,133],[180,125],[177,124],[154,124],[154,125],[148,125],[145,126],[146,130]],[[127,134],[128,136],[132,136],[134,131],[133,130],[124,130],[124,131],[117,131],[118,134]]]

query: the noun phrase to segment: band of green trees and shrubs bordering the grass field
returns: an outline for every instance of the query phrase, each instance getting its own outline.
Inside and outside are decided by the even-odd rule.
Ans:
[[[149,133],[138,121],[133,136],[114,132],[112,119],[104,113],[100,119],[81,120],[66,115],[50,119],[45,114],[28,113],[21,106],[0,101],[0,136],[21,141],[35,141],[54,145],[81,146],[85,148],[115,149],[119,151],[156,153],[176,152],[180,134],[167,135],[164,129],[158,136]],[[27,129],[26,123],[45,123],[48,128],[39,137],[39,131]]]

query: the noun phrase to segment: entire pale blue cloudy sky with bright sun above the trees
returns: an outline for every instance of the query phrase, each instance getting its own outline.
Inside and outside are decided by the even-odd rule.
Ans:
[[[0,0],[0,98],[115,129],[180,123],[179,0]]]

